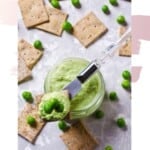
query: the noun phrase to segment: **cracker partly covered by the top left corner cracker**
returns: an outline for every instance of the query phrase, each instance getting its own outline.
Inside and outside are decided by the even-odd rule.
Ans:
[[[62,24],[68,15],[61,10],[50,8],[49,6],[46,6],[46,10],[49,16],[49,22],[40,24],[36,28],[61,36],[63,31]]]

